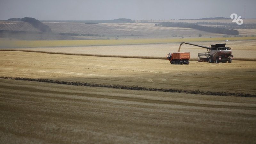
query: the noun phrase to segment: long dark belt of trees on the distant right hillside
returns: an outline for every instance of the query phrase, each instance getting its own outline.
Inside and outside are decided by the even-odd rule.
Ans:
[[[157,24],[156,24],[157,25]],[[213,33],[221,33],[221,34],[228,34],[228,35],[238,35],[239,32],[233,29],[226,29],[226,28],[219,28],[219,27],[210,27],[210,26],[203,26],[203,25],[196,25],[192,23],[183,23],[183,22],[162,22],[157,26],[166,26],[166,27],[187,27],[193,28],[200,31],[205,32],[213,32]]]

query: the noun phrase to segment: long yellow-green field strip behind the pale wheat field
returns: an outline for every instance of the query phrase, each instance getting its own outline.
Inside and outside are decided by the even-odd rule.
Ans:
[[[1,40],[0,47],[73,47],[132,44],[159,44],[175,42],[224,41],[227,38],[138,39],[138,40]],[[228,40],[256,40],[256,37],[236,37]]]

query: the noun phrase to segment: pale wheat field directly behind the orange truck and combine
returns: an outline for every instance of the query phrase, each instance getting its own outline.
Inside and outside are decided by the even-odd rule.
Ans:
[[[228,38],[227,38],[228,39]],[[180,39],[180,42],[183,39]],[[21,50],[71,53],[71,54],[100,54],[114,56],[146,56],[164,58],[169,52],[178,52],[179,43],[168,44],[139,44],[139,45],[118,45],[118,46],[87,46],[87,47],[39,47],[39,48],[16,48]],[[211,44],[226,43],[232,48],[232,54],[237,60],[256,60],[256,40],[234,40],[234,41],[207,41],[191,42],[198,45],[211,47]],[[196,59],[198,53],[207,52],[206,49],[183,44],[180,52],[190,52],[192,59]]]

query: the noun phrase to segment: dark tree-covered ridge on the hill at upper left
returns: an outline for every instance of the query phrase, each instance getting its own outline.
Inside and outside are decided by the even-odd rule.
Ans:
[[[38,28],[41,32],[52,32],[52,29],[48,25],[44,25],[42,22],[37,20],[36,18],[9,18],[10,21],[23,21],[28,22],[34,27]]]

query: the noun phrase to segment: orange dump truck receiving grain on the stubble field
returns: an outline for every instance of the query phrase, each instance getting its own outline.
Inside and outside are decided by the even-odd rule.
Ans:
[[[190,53],[169,53],[166,58],[171,64],[189,64]]]

